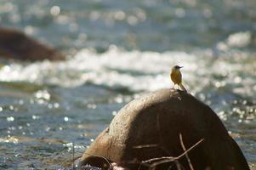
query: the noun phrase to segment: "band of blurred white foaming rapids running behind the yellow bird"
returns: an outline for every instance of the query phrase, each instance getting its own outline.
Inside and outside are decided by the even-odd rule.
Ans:
[[[230,56],[225,57],[226,55]],[[173,65],[182,65],[185,87],[191,89],[192,93],[211,84],[215,88],[233,84],[234,92],[245,93],[246,89],[252,89],[255,84],[255,70],[249,70],[245,65],[255,68],[256,62],[247,62],[250,59],[247,55],[240,52],[236,56],[225,54],[214,57],[211,49],[192,54],[179,51],[127,52],[115,46],[104,54],[82,49],[71,59],[61,62],[5,65],[0,70],[0,81],[24,81],[62,87],[76,87],[89,82],[113,89],[152,91],[173,87],[169,71]],[[248,77],[242,77],[241,74],[248,74]],[[242,92],[241,88],[244,88]],[[251,94],[249,90],[247,93]]]

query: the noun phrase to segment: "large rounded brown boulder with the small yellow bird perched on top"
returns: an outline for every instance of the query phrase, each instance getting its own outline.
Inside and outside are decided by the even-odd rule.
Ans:
[[[102,156],[122,167],[138,169],[140,161],[180,156],[184,150],[179,134],[186,149],[204,139],[188,152],[196,170],[249,170],[242,151],[211,108],[191,94],[173,89],[147,94],[124,106],[83,154],[80,166],[106,165],[99,157]],[[191,169],[185,156],[178,161],[185,169]],[[168,169],[172,163],[171,169],[178,169],[174,162],[156,169]]]

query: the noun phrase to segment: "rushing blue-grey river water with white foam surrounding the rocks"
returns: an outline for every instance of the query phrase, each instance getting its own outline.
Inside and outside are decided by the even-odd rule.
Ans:
[[[2,0],[0,21],[69,54],[1,60],[0,169],[65,167],[176,64],[256,163],[254,0]]]

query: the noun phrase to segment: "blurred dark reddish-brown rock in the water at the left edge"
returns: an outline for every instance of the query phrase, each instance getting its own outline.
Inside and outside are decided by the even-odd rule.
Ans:
[[[20,60],[65,59],[53,47],[7,27],[0,27],[0,57]]]

